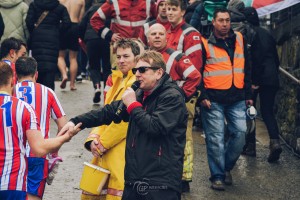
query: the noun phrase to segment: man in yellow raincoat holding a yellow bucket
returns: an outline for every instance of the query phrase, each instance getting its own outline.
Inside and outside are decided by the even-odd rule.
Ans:
[[[135,56],[140,48],[132,39],[121,39],[116,43],[118,70],[111,75],[112,86],[106,93],[104,104],[120,100],[123,92],[136,81],[131,69],[135,66]],[[125,143],[128,123],[111,123],[94,128],[89,134],[85,148],[92,151],[91,163],[110,171],[107,188],[101,195],[83,191],[82,200],[121,200],[124,189]],[[95,151],[95,149],[98,149]],[[83,173],[84,176],[84,173]]]

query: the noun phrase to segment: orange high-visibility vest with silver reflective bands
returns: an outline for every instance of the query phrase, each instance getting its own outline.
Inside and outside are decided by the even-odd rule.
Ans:
[[[243,36],[239,32],[235,32],[235,35],[233,64],[225,49],[214,46],[208,43],[207,39],[202,38],[207,58],[203,71],[205,88],[226,90],[232,84],[239,89],[244,88],[245,57]]]

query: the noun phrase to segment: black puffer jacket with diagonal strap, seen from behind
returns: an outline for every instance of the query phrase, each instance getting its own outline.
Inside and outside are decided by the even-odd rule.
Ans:
[[[34,28],[42,13],[49,13],[41,24]],[[71,25],[69,13],[58,0],[35,0],[30,4],[26,24],[31,34],[30,48],[32,56],[38,62],[38,71],[57,69],[59,52],[59,33]]]

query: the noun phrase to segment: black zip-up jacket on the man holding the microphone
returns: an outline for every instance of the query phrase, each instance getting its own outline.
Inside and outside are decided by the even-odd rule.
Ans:
[[[144,93],[136,91],[136,107],[129,115],[121,113],[129,121],[125,150],[125,184],[134,186],[139,181],[149,185],[166,186],[181,192],[187,109],[184,92],[164,74],[153,92],[144,100]],[[118,121],[115,113],[121,101],[72,118],[81,128],[95,127]],[[114,133],[111,133],[114,134]]]

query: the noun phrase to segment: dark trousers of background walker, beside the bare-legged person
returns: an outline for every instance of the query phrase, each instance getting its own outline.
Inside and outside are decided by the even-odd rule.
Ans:
[[[94,88],[100,81],[106,83],[111,74],[109,43],[102,39],[88,40],[86,42],[87,56],[89,60],[89,72]],[[102,73],[101,74],[101,67]]]

